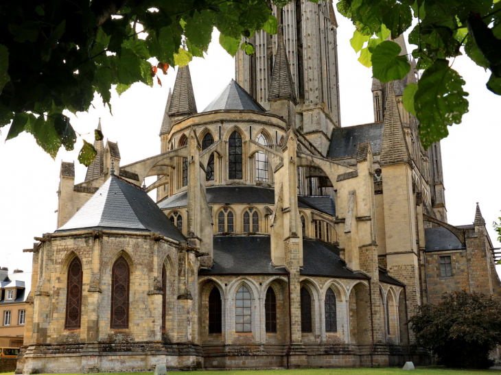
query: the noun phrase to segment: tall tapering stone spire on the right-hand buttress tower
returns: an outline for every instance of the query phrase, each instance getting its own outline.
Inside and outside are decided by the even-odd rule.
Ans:
[[[397,108],[397,98],[393,82],[388,85],[388,100],[384,113],[383,141],[381,145],[380,165],[399,164],[409,162],[410,155],[407,147],[404,128],[402,128]]]

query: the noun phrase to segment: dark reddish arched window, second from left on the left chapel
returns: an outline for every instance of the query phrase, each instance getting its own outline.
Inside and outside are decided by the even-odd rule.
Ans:
[[[123,256],[115,261],[111,271],[110,328],[129,327],[129,265]]]

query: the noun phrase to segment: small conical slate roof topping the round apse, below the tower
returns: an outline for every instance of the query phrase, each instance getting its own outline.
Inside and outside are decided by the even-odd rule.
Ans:
[[[233,79],[202,112],[211,110],[257,110],[258,112],[265,112],[264,108]]]

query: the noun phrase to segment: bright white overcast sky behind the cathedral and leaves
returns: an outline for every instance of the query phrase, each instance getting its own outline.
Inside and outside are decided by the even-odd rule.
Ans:
[[[354,27],[348,19],[336,14],[338,20],[338,64],[340,75],[341,125],[350,126],[373,121],[371,69],[357,61],[349,40]],[[198,111],[235,77],[235,62],[218,44],[218,32],[205,58],[194,58],[189,64]],[[412,48],[409,49],[412,51]],[[496,241],[492,222],[501,216],[501,173],[498,150],[501,141],[501,97],[485,87],[489,73],[469,58],[460,56],[453,65],[467,82],[469,112],[463,123],[449,128],[450,135],[441,142],[447,219],[452,225],[474,221],[476,202],[494,247]],[[120,97],[113,92],[113,116],[95,95],[89,112],[71,115],[71,124],[82,138],[93,143],[93,130],[101,118],[104,138],[118,142],[121,165],[141,160],[160,152],[159,131],[169,88],[176,73],[169,69],[159,76],[162,86],[153,88],[134,84]],[[75,160],[75,183],[82,182],[86,167],[78,163],[82,147],[79,138],[75,149],[60,149],[55,160],[36,145],[32,135],[21,133],[5,142],[8,126],[0,134],[0,267],[31,270],[33,237],[56,230],[56,213],[61,161]],[[498,167],[496,167],[498,165]],[[147,180],[147,185],[154,177]],[[501,266],[496,267],[501,274]]]

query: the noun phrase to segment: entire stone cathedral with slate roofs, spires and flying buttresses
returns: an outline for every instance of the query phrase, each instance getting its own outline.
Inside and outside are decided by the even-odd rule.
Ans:
[[[501,294],[479,206],[447,223],[440,143],[402,105],[415,63],[367,82],[372,123],[341,127],[331,2],[273,12],[207,108],[177,69],[159,153],[121,165],[95,141],[78,183],[62,162],[58,229],[25,250],[16,373],[426,364],[420,304]]]

